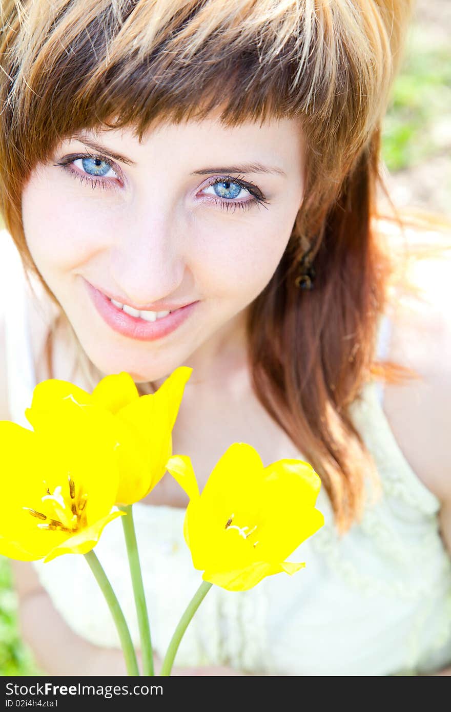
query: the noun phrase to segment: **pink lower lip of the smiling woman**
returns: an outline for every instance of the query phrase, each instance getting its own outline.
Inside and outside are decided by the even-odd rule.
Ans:
[[[161,319],[145,321],[139,317],[130,316],[115,307],[103,292],[93,287],[88,281],[86,281],[86,286],[95,308],[105,323],[119,334],[138,341],[155,341],[172,333],[182,325],[194,311],[195,306],[199,304],[199,301],[192,302]]]

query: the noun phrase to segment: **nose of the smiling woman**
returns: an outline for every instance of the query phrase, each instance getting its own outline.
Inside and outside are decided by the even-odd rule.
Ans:
[[[111,271],[118,293],[130,303],[142,305],[189,296],[185,256],[180,235],[170,219],[130,219],[115,242]],[[185,295],[183,292],[185,291]]]

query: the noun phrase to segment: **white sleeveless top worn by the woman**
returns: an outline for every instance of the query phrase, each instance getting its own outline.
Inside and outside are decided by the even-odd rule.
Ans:
[[[6,247],[6,241],[9,246]],[[21,262],[0,233],[11,419],[30,427],[24,410],[36,383],[26,323]],[[390,323],[380,323],[378,353]],[[433,672],[451,664],[451,560],[439,535],[440,502],[415,475],[390,431],[382,390],[368,384],[353,421],[378,466],[384,497],[341,540],[326,490],[326,523],[289,557],[306,568],[271,576],[248,592],[212,587],[182,639],[175,664],[228,665],[270,675],[385,676]],[[133,507],[152,641],[160,656],[201,582],[183,538],[185,510]],[[120,521],[95,548],[139,646]],[[34,566],[56,609],[81,637],[119,646],[110,612],[84,557]]]

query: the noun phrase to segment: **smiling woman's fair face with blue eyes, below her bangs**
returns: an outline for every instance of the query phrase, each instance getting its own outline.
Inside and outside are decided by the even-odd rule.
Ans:
[[[132,129],[85,132],[31,174],[24,231],[103,374],[156,382],[187,365],[198,376],[242,338],[245,310],[274,274],[303,189],[297,120],[227,129],[213,114],[157,127],[141,143]],[[155,322],[148,313],[172,309]]]

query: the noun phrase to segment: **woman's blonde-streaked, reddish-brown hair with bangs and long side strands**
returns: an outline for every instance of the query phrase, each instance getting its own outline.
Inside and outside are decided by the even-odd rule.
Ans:
[[[64,137],[131,125],[142,140],[159,122],[202,120],[214,108],[226,126],[301,120],[304,202],[274,276],[249,309],[249,363],[261,404],[321,475],[341,531],[363,511],[364,473],[376,477],[348,406],[374,369],[393,268],[371,221],[380,122],[410,10],[410,0],[1,7],[0,206],[29,271],[38,273],[21,192]],[[317,273],[309,292],[294,286],[306,244]]]

